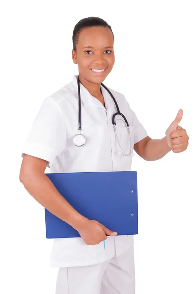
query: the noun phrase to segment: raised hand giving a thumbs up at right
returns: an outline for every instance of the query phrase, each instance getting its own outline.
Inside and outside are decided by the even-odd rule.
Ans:
[[[178,125],[182,119],[182,115],[183,111],[180,109],[175,120],[165,132],[168,146],[174,153],[185,151],[189,145],[189,136],[187,135],[186,130]]]

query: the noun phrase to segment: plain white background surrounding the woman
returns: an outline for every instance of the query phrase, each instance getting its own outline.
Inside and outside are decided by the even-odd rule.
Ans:
[[[53,239],[44,208],[19,181],[22,148],[44,98],[78,73],[74,25],[111,25],[115,65],[105,85],[123,93],[153,139],[180,108],[188,149],[148,162],[136,153],[136,294],[196,294],[196,2],[6,1],[0,8],[0,293],[54,294]],[[49,172],[49,169],[46,169]],[[2,288],[2,289],[1,289]]]

